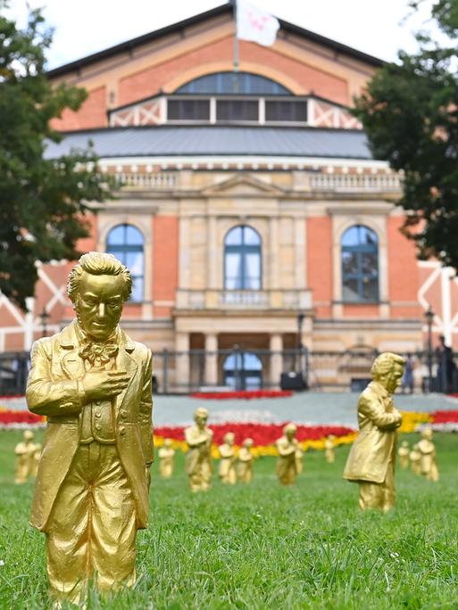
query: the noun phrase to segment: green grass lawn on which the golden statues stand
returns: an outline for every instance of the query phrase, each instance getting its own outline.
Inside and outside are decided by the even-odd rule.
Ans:
[[[0,607],[30,610],[47,604],[45,540],[28,524],[32,485],[12,483],[20,436],[0,433]],[[280,488],[274,459],[262,458],[251,486],[215,477],[197,496],[179,456],[171,481],[154,476],[136,588],[109,601],[93,593],[88,607],[457,608],[458,437],[436,441],[440,482],[398,472],[388,515],[358,511],[357,485],[342,480],[347,448],[334,465],[307,453],[294,488]]]

